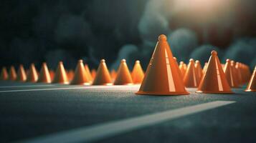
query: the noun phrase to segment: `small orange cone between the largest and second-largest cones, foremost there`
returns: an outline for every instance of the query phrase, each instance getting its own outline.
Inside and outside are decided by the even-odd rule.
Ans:
[[[198,69],[194,66],[194,59],[189,60],[189,65],[184,75],[184,84],[186,87],[198,87],[200,82]]]

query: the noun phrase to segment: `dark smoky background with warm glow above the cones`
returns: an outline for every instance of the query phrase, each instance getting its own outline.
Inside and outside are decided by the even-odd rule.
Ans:
[[[224,63],[256,64],[255,0],[4,0],[0,5],[0,67],[47,61],[50,69],[78,59],[117,69],[136,59],[146,69],[159,34],[179,61],[202,64],[215,49]]]

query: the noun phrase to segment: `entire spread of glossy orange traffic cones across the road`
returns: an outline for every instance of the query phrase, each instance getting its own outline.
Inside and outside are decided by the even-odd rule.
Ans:
[[[30,71],[32,72],[32,68]],[[36,71],[33,71],[36,73]],[[69,75],[70,74],[70,75]],[[129,85],[141,84],[141,88],[136,94],[156,94],[156,95],[178,95],[189,94],[185,87],[198,87],[198,93],[223,93],[231,94],[231,87],[240,87],[249,81],[247,92],[255,91],[255,71],[250,78],[249,66],[234,62],[227,59],[226,64],[221,64],[217,56],[217,51],[212,51],[209,61],[204,65],[204,69],[198,60],[189,60],[188,66],[183,61],[178,65],[176,58],[173,56],[170,46],[166,41],[166,36],[158,37],[156,48],[148,64],[145,77],[139,61],[133,68],[132,74],[123,59],[117,74],[115,71],[109,73],[105,60],[100,61],[97,71],[92,71],[87,65],[84,66],[82,60],[78,61],[75,73],[65,73],[63,63],[57,67],[53,83],[68,84],[70,81],[67,77],[72,77],[70,84],[93,84],[93,85]],[[19,80],[24,81],[24,68],[19,68]],[[115,80],[111,79],[115,77]],[[8,78],[6,69],[1,74],[3,79]],[[10,79],[16,79],[15,69],[11,66]],[[32,79],[32,78],[30,78]],[[36,79],[36,78],[34,78]],[[93,80],[94,79],[94,80]],[[42,64],[42,69],[37,82],[50,83],[51,77],[46,63]]]

